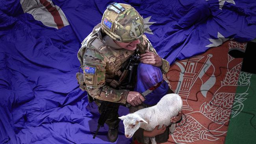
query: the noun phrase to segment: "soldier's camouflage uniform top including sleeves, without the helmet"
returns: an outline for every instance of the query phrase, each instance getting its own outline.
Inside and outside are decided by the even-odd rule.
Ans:
[[[144,54],[145,50],[157,54],[146,35],[139,39],[141,42],[137,44],[137,48],[140,54]],[[106,43],[108,42],[103,41],[102,38],[100,24],[95,26],[93,32],[82,42],[82,47],[78,51],[78,59],[83,69],[84,81],[79,80],[80,88],[86,90],[90,96],[98,100],[126,103],[129,90],[115,89],[120,84],[115,78],[120,78],[122,64],[129,59],[134,51],[121,49],[117,45],[110,47]],[[165,59],[162,59],[162,62],[161,71],[165,74],[169,70],[169,62]],[[95,68],[95,73],[85,72],[88,67]]]

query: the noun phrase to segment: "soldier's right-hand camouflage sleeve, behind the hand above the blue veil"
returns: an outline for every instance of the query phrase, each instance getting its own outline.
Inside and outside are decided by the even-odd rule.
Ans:
[[[145,53],[145,51],[149,51],[149,52],[153,52],[154,54],[158,55],[156,50],[153,48],[152,44],[150,43],[150,41],[148,40],[148,38],[146,37],[146,35],[143,35],[140,38],[140,46],[144,49],[142,49],[142,54]],[[168,61],[166,61],[165,59],[162,59],[162,66],[161,66],[161,71],[163,72],[163,74],[166,74],[170,68],[170,64]]]

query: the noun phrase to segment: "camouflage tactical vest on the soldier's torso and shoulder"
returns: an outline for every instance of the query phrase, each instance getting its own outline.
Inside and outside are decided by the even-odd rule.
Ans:
[[[134,53],[133,51],[128,51],[125,49],[119,49],[115,50],[113,48],[110,48],[104,42],[102,42],[102,33],[101,33],[101,27],[100,24],[95,26],[93,31],[83,40],[81,43],[82,46],[80,50],[78,51],[78,59],[80,61],[80,68],[83,69],[83,55],[85,53],[86,49],[93,49],[99,52],[100,54],[104,55],[107,58],[107,65],[106,65],[106,83],[110,85],[111,87],[115,88],[118,83],[116,81],[117,77],[120,77],[121,67],[122,64],[129,59],[129,57]],[[76,74],[76,78],[78,80],[78,84],[80,85],[80,89],[86,90],[85,85],[85,78],[83,76],[83,73],[78,72]]]

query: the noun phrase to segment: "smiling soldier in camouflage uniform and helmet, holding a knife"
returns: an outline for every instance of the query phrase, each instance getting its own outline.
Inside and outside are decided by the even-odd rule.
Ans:
[[[139,13],[128,4],[114,2],[107,7],[101,23],[83,40],[78,51],[83,74],[77,73],[76,78],[80,89],[87,91],[89,102],[95,100],[98,106],[102,101],[130,103],[135,107],[145,101],[139,92],[133,91],[133,87],[126,89],[122,84],[124,63],[134,53],[141,55],[141,63],[159,67],[164,74],[169,70],[169,62],[158,56],[144,35],[143,18]],[[106,121],[111,142],[117,140],[119,121],[117,111]],[[160,132],[156,129],[152,133]]]

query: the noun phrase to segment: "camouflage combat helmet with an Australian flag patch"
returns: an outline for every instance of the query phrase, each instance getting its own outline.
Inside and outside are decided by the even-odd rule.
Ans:
[[[144,34],[143,18],[128,4],[111,3],[101,20],[102,30],[119,42],[130,42]]]

